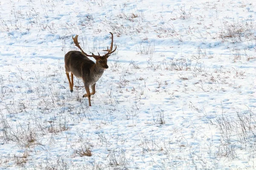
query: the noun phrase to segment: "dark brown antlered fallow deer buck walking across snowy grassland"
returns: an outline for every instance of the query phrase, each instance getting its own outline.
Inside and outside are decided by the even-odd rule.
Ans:
[[[105,69],[108,68],[107,59],[108,57],[116,51],[116,48],[112,51],[113,48],[113,34],[111,34],[111,46],[107,50],[106,54],[100,56],[98,55],[88,55],[86,54],[80,47],[79,42],[77,40],[78,35],[75,38],[72,36],[75,45],[81,50],[80,51],[69,51],[65,55],[65,70],[67,75],[67,80],[69,82],[70,91],[73,93],[73,75],[77,78],[82,79],[84,82],[84,88],[87,94],[84,94],[83,97],[88,97],[89,106],[91,106],[90,96],[95,94],[95,85],[99,78],[102,76]],[[117,47],[117,46],[116,46]],[[90,60],[88,57],[93,57],[96,59],[96,63]],[[71,73],[71,81],[69,77],[69,73]],[[92,88],[92,93],[90,93],[89,86]]]

